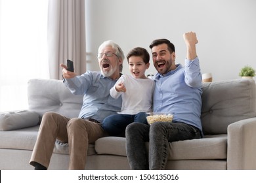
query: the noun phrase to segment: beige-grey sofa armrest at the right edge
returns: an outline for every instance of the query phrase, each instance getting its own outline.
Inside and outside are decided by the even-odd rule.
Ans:
[[[256,169],[256,118],[228,125],[227,169]]]

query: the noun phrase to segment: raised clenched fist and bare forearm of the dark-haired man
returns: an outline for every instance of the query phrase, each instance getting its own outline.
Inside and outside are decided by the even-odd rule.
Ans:
[[[196,33],[188,32],[183,34],[184,41],[186,43],[186,58],[193,60],[197,57],[196,55],[196,44],[198,39],[196,38]]]

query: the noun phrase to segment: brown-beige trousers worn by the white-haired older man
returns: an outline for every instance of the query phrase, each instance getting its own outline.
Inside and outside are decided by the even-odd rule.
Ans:
[[[33,148],[30,164],[40,163],[49,167],[56,139],[68,142],[70,150],[69,169],[85,169],[89,144],[94,144],[107,134],[99,123],[81,118],[66,118],[56,112],[43,115],[37,141]]]

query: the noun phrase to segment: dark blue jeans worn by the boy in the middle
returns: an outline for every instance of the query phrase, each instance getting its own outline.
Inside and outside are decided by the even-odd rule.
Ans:
[[[146,112],[139,112],[135,115],[114,114],[108,116],[102,122],[102,127],[110,136],[125,137],[125,128],[133,122],[148,124],[146,121]]]

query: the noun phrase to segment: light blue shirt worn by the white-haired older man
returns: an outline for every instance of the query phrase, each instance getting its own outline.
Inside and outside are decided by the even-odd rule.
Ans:
[[[116,84],[116,81],[104,77],[100,72],[92,71],[65,79],[64,84],[72,93],[84,95],[79,118],[93,118],[102,122],[106,116],[120,111],[121,97],[114,99],[110,96],[110,89]]]

